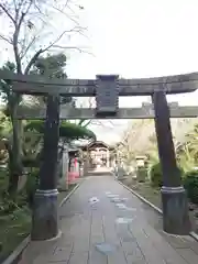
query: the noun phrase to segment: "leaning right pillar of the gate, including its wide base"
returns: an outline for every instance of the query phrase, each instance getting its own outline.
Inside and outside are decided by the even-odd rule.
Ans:
[[[162,202],[164,231],[173,234],[188,234],[190,231],[186,191],[182,186],[172,136],[169,108],[166,94],[155,91],[152,96],[155,111],[155,130],[158,155],[163,172]]]

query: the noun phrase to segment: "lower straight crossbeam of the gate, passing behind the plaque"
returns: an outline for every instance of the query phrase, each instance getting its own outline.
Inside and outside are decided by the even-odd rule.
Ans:
[[[188,106],[169,106],[170,118],[197,118],[198,107]],[[24,120],[40,120],[46,119],[46,108],[18,108],[18,119]],[[153,106],[141,108],[119,108],[116,116],[103,116],[100,119],[154,119],[155,113]],[[94,108],[70,108],[61,106],[59,119],[75,120],[75,119],[97,119],[96,109]]]

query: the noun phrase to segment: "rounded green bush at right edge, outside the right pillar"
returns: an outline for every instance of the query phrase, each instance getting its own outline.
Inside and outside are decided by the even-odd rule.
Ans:
[[[198,204],[198,170],[187,172],[184,178],[184,187],[189,200]]]

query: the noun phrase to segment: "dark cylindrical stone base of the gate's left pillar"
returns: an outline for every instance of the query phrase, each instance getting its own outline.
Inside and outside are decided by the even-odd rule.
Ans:
[[[58,234],[57,195],[57,189],[36,190],[32,216],[32,240],[48,240]]]

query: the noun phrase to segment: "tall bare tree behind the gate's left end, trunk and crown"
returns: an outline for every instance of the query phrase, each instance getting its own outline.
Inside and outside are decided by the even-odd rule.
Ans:
[[[6,26],[3,32],[0,32],[0,40],[7,45],[4,47],[12,52],[14,58],[14,63],[8,63],[4,68],[18,74],[30,74],[38,57],[47,51],[79,50],[76,46],[63,45],[65,42],[68,43],[68,38],[74,34],[84,34],[85,29],[79,25],[74,9],[81,10],[82,7],[70,0],[2,0],[0,3],[0,23]],[[67,22],[63,23],[66,20]],[[1,87],[7,96],[13,125],[13,158],[11,158],[10,166],[9,190],[14,193],[19,176],[22,173],[22,123],[16,119],[16,108],[22,96],[12,91],[12,84],[9,81],[1,81]]]

